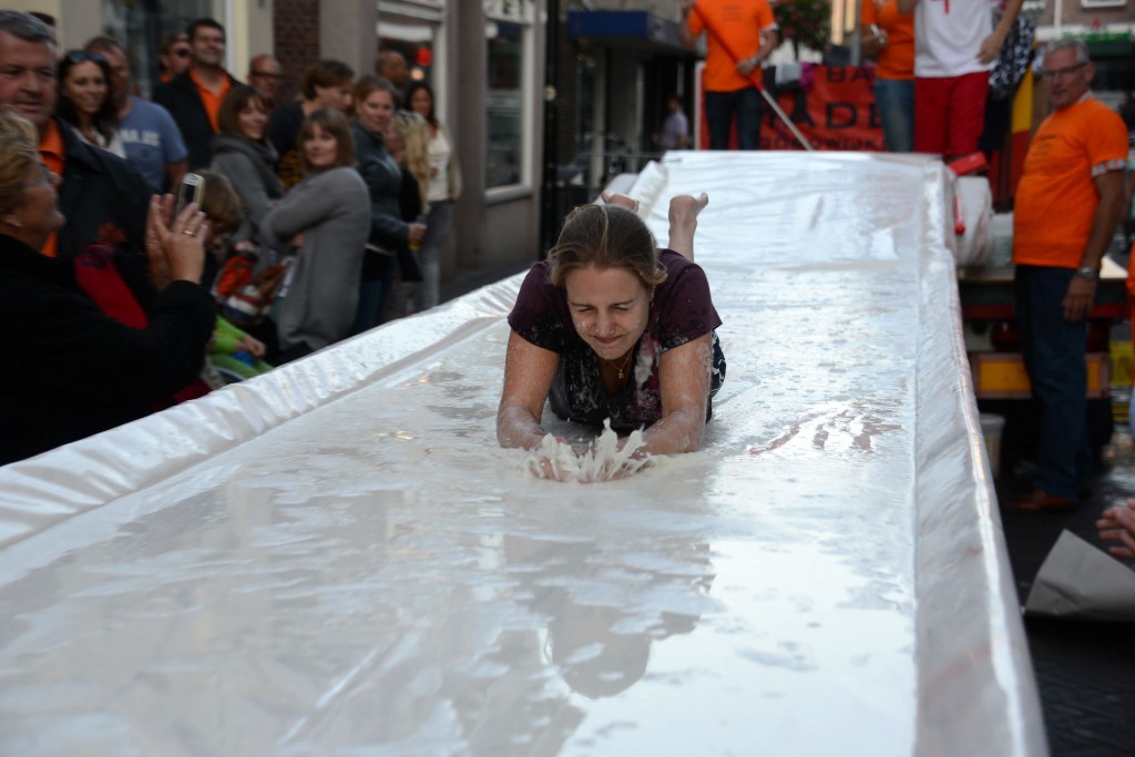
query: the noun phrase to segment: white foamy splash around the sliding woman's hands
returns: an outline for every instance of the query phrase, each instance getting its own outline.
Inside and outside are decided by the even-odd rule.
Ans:
[[[619,435],[611,430],[611,419],[603,421],[603,432],[577,451],[570,441],[561,441],[553,435],[545,435],[540,446],[529,454],[524,468],[537,478],[558,481],[591,483],[609,481],[638,473],[650,464],[650,455],[645,451],[646,441],[641,429],[631,431],[622,449]],[[550,474],[543,463],[548,463]]]

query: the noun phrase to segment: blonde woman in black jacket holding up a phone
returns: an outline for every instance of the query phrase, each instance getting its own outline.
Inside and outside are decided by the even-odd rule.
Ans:
[[[200,286],[204,216],[154,195],[145,252],[157,295],[142,327],[104,314],[74,266],[40,254],[64,222],[59,178],[39,153],[35,127],[0,109],[0,323],[18,370],[0,372],[0,464],[142,418],[192,381],[204,362],[216,309]]]

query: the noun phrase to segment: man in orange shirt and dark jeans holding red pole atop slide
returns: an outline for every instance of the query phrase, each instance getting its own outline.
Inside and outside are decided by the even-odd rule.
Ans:
[[[682,47],[693,48],[708,35],[705,90],[709,149],[728,150],[729,132],[737,116],[737,146],[760,144],[760,90],[750,76],[760,76],[760,64],[779,40],[776,19],[767,0],[682,0]]]

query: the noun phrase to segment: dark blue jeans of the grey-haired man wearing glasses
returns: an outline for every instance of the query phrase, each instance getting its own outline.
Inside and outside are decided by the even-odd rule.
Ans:
[[[1020,352],[1040,412],[1040,446],[1033,483],[1056,497],[1075,499],[1091,480],[1087,441],[1087,319],[1065,320],[1061,302],[1075,271],[1017,266],[1014,306]]]

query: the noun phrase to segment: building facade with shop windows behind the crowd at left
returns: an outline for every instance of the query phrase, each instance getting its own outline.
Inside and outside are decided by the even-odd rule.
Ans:
[[[124,42],[140,90],[157,81],[162,36],[199,17],[227,31],[226,68],[272,53],[283,98],[303,69],[335,58],[373,72],[379,49],[397,49],[431,84],[462,168],[463,193],[443,251],[457,269],[520,266],[540,256],[546,0],[10,0],[56,19],[61,50],[99,34]]]

